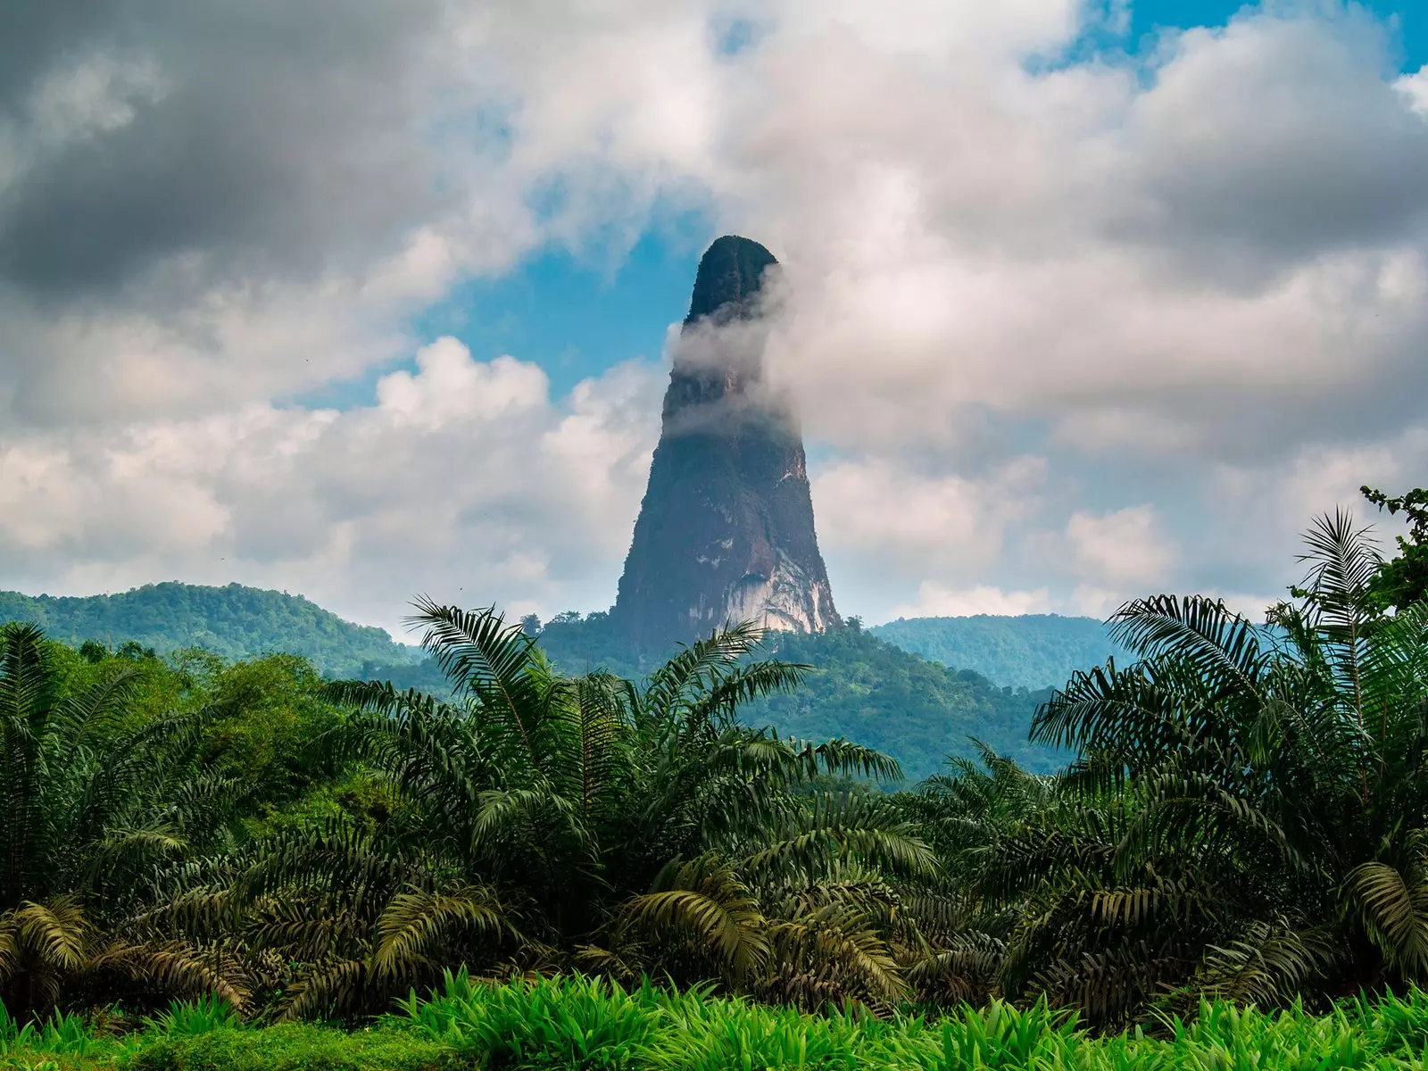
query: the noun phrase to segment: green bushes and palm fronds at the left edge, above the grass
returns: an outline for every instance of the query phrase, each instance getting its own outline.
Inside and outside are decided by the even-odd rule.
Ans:
[[[314,747],[338,711],[293,655],[87,655],[0,627],[0,994],[17,1015],[201,990],[241,1000],[231,950],[150,908],[170,875],[294,813],[348,813],[360,780],[331,784]]]

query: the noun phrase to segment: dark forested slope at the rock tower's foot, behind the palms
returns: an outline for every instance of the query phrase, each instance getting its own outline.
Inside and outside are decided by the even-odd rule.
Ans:
[[[637,675],[640,661],[605,614],[551,621],[540,634],[558,667],[601,667]],[[813,667],[797,691],[748,705],[750,725],[794,737],[844,737],[898,760],[910,781],[928,777],[945,755],[972,755],[972,737],[1031,770],[1051,771],[1067,755],[1027,738],[1051,690],[998,688],[971,671],[934,661],[847,627],[828,633],[770,633],[765,650]]]

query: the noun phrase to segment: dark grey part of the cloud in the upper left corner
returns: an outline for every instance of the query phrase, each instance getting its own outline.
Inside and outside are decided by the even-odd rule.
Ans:
[[[441,197],[421,123],[444,19],[436,0],[0,7],[0,278],[106,297],[184,257],[170,281],[193,294],[396,247]]]

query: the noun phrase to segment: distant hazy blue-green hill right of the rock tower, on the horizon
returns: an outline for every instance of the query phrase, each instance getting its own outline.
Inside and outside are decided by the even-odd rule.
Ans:
[[[1025,688],[1061,687],[1074,670],[1127,657],[1094,617],[900,617],[868,631],[904,651]]]

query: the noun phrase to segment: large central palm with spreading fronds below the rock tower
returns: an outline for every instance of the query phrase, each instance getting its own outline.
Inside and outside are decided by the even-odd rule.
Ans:
[[[306,964],[288,1015],[383,1007],[454,962],[678,970],[688,957],[674,945],[708,931],[693,910],[700,883],[728,892],[764,880],[750,938],[763,947],[767,912],[818,880],[868,877],[854,864],[927,864],[885,814],[810,807],[795,791],[828,773],[894,775],[891,760],[738,723],[743,704],[804,671],[751,661],[755,628],[715,633],[633,683],[558,674],[493,608],[423,600],[417,611],[450,700],[334,685],[351,708],[334,747],[390,787],[390,818],[281,834],[188,894],[214,911],[241,904],[256,945]],[[743,937],[700,970],[747,981]]]

